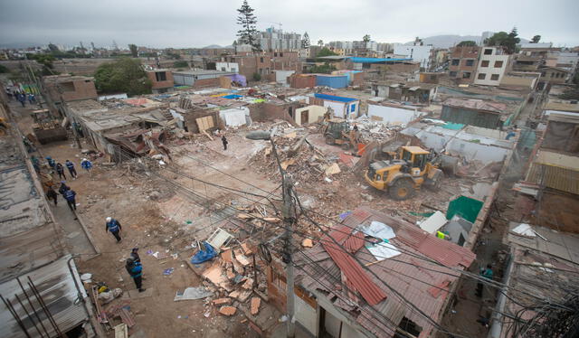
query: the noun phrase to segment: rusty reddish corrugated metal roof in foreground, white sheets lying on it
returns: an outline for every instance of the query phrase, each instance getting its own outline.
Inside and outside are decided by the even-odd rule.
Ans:
[[[361,223],[365,224],[371,221],[380,221],[393,228],[396,237],[391,239],[391,242],[397,248],[403,249],[404,251],[414,251],[417,255],[422,254],[422,256],[426,258],[432,258],[446,266],[453,268],[469,267],[475,258],[475,255],[468,249],[459,247],[447,240],[436,239],[433,235],[426,233],[411,223],[395,219],[383,212],[374,211],[369,208],[356,209],[356,211],[353,211],[351,215],[346,217],[343,224],[350,228],[356,228]],[[343,236],[343,239],[346,239],[346,237],[347,234]],[[394,258],[395,260],[384,259],[369,266],[368,268],[380,279],[379,281],[376,280],[375,277],[370,276],[369,278],[373,282],[372,285],[379,286],[384,291],[384,294],[388,295],[387,298],[371,307],[362,304],[363,302],[361,302],[360,296],[356,298],[356,295],[348,295],[344,291],[344,288],[337,284],[337,281],[341,280],[342,272],[346,274],[346,271],[350,271],[351,273],[354,269],[351,267],[346,267],[346,271],[340,269],[338,266],[341,267],[342,264],[337,264],[333,256],[329,258],[327,252],[325,252],[326,249],[323,249],[323,247],[323,245],[317,244],[312,249],[302,251],[303,255],[307,255],[307,259],[303,258],[302,255],[297,255],[297,264],[302,264],[302,268],[306,269],[308,274],[312,274],[312,276],[315,277],[308,277],[308,274],[299,270],[297,272],[299,276],[297,280],[300,281],[301,286],[312,291],[322,290],[330,293],[329,296],[327,296],[328,301],[346,311],[358,324],[376,336],[384,337],[394,335],[394,331],[390,327],[398,325],[404,316],[422,326],[420,337],[426,337],[432,332],[432,324],[425,320],[422,315],[411,310],[410,305],[401,301],[401,299],[395,296],[384,284],[394,288],[394,290],[407,298],[410,303],[420,308],[434,320],[439,320],[442,305],[444,305],[448,293],[442,292],[441,290],[439,290],[441,291],[440,293],[434,293],[432,292],[432,286],[424,284],[421,281],[444,288],[450,287],[450,285],[447,286],[447,283],[453,283],[457,277],[449,276],[449,270],[447,268],[441,268],[427,263],[423,259],[413,258],[404,253]],[[341,249],[331,248],[330,250],[340,251]],[[364,247],[359,249],[355,256],[361,259],[363,263],[368,260],[375,260],[372,254]],[[317,261],[321,268],[308,264],[309,259]],[[356,263],[356,265],[359,267],[359,264]],[[323,269],[323,272],[320,272],[321,269]],[[350,278],[350,282],[354,282],[352,278]],[[348,284],[350,283],[346,283],[346,286]],[[328,286],[333,287],[328,288]],[[356,287],[356,289],[358,288]],[[364,295],[362,295],[362,297],[365,298]],[[356,306],[354,308],[352,307],[352,302],[355,302]],[[381,317],[387,319],[384,320],[384,318]]]

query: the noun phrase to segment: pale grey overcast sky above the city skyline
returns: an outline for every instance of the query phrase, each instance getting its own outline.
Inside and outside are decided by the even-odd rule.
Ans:
[[[150,47],[229,45],[242,0],[0,0],[0,44]],[[579,0],[249,0],[258,29],[282,23],[310,41],[409,42],[415,36],[540,34],[542,42],[579,45]],[[277,24],[276,24],[277,27]]]

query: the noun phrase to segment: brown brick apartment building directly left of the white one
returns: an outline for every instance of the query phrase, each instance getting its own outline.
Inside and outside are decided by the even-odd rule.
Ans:
[[[450,56],[449,77],[459,84],[470,84],[479,66],[480,47],[454,47]]]

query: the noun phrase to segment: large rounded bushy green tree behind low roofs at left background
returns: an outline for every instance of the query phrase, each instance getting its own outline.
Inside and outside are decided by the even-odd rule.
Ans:
[[[124,92],[127,95],[151,93],[151,80],[136,59],[121,58],[103,63],[94,73],[97,90],[102,93]]]

